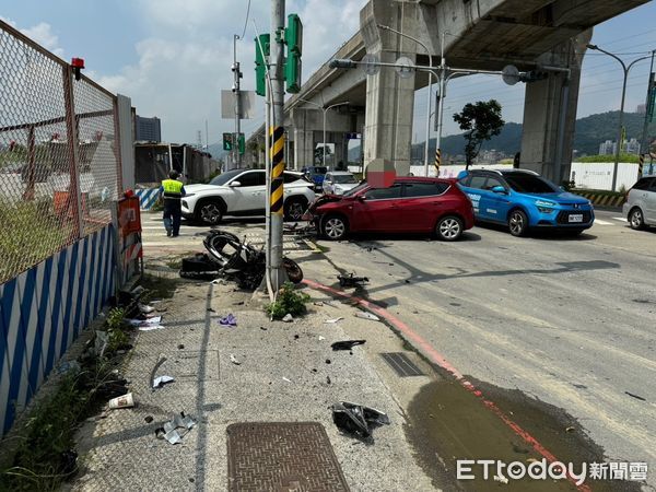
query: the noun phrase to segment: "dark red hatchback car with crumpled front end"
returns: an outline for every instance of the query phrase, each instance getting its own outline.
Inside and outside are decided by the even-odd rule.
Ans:
[[[455,179],[398,177],[389,188],[361,183],[344,195],[319,197],[312,221],[328,239],[350,232],[434,233],[456,241],[473,226],[473,208]]]

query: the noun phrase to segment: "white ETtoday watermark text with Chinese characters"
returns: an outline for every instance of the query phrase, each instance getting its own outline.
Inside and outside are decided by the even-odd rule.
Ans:
[[[609,461],[564,464],[548,462],[547,459],[530,462],[512,461],[506,464],[497,459],[458,459],[456,461],[458,480],[494,479],[507,482],[526,477],[534,480],[572,480],[576,485],[586,480],[631,480],[647,479],[647,464],[643,461]]]

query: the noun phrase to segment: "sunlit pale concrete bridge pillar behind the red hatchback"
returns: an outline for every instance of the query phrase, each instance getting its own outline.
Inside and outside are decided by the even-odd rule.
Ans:
[[[394,63],[400,56],[415,60],[415,44],[398,34],[382,31],[388,25],[411,36],[417,31],[417,5],[408,2],[370,1],[360,12],[360,27],[368,54]],[[374,159],[390,160],[397,174],[410,171],[414,74],[402,79],[393,68],[380,68],[366,78],[364,164]]]

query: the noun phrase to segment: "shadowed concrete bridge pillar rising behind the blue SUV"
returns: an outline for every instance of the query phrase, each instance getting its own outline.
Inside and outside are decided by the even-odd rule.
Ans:
[[[569,68],[526,84],[519,166],[540,173],[557,185],[569,179],[581,82],[581,63],[591,30],[538,58],[544,66]]]

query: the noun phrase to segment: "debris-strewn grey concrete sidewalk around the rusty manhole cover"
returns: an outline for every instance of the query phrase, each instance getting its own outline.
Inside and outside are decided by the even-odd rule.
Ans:
[[[327,300],[309,293],[315,302]],[[433,490],[406,437],[401,407],[409,394],[394,393],[382,377],[391,370],[373,359],[380,344],[401,351],[399,339],[382,323],[356,318],[354,307],[338,305],[309,304],[304,318],[270,323],[261,303],[235,292],[232,283],[180,282],[171,300],[157,304],[166,309],[165,329],[140,331],[125,364],[138,405],[110,410],[81,430],[84,475],[72,490],[348,490],[344,482],[351,490]],[[236,316],[236,328],[218,324],[229,313]],[[338,316],[344,319],[324,323]],[[367,342],[352,354],[330,349],[353,338]],[[152,390],[150,373],[160,354],[167,361],[157,375],[176,380]],[[429,382],[427,376],[410,379],[408,387]],[[374,444],[341,434],[333,424],[329,407],[343,400],[389,415],[390,425],[374,430]],[[198,421],[181,444],[156,438],[155,430],[180,411]],[[231,427],[229,466],[226,429],[241,422],[320,426],[283,429],[283,441],[280,430],[261,427],[254,442],[245,441],[246,427]],[[329,443],[321,444],[321,427]],[[301,436],[305,441],[295,442]],[[338,465],[331,462],[332,452]]]

